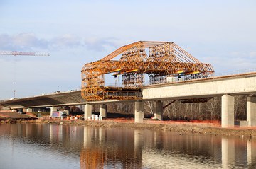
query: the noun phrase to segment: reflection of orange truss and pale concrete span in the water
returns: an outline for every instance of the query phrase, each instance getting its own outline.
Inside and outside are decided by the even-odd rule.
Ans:
[[[256,141],[225,136],[84,127],[81,168],[256,167]]]

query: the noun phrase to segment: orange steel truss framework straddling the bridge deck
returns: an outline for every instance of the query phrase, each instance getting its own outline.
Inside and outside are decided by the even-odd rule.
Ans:
[[[119,60],[112,60],[119,54]],[[142,98],[145,74],[149,85],[165,83],[166,78],[206,78],[213,73],[210,64],[178,47],[174,42],[139,41],[125,45],[106,57],[82,67],[82,98],[88,101]],[[105,74],[122,75],[122,87],[105,86]]]

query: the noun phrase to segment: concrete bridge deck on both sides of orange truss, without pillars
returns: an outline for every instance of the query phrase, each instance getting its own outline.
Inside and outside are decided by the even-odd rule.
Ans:
[[[144,86],[142,100],[182,100],[190,98],[210,98],[228,95],[256,95],[256,72],[202,78],[191,81],[178,81],[158,85]],[[81,91],[68,91],[37,95],[28,98],[3,100],[0,105],[16,108],[52,107],[65,105],[85,105],[119,102],[120,100],[104,100],[88,102],[81,97]],[[136,101],[136,100],[128,100]]]

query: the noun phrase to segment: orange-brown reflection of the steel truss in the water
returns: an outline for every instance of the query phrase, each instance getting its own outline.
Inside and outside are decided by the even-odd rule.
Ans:
[[[142,168],[134,143],[134,130],[84,127],[81,168]],[[134,145],[135,144],[135,145]],[[142,141],[139,142],[142,148]],[[133,148],[134,147],[134,148]],[[142,152],[142,150],[140,150]]]

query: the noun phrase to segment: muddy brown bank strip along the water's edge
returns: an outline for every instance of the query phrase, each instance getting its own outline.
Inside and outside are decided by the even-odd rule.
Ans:
[[[4,123],[21,123],[21,124],[58,124],[58,125],[82,125],[90,127],[106,127],[120,129],[147,129],[155,131],[172,131],[184,133],[198,133],[220,136],[238,136],[245,139],[256,139],[255,127],[220,127],[220,124],[213,123],[193,123],[193,122],[166,122],[144,120],[144,123],[134,123],[132,119],[115,119],[102,121],[87,120],[53,120],[48,118],[39,118],[37,120],[1,120]]]

